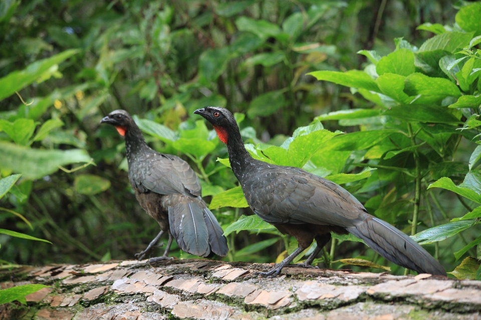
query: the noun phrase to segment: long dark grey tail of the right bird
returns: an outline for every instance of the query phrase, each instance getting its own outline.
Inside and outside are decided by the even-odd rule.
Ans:
[[[442,265],[423,247],[389,223],[369,215],[362,223],[347,228],[386,259],[419,273],[446,275]]]

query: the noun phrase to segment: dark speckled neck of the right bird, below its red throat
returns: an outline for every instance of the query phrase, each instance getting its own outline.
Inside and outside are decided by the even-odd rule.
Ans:
[[[234,172],[237,180],[243,183],[246,168],[252,165],[254,159],[246,150],[237,125],[228,130],[227,150],[229,151],[229,162],[232,172]]]

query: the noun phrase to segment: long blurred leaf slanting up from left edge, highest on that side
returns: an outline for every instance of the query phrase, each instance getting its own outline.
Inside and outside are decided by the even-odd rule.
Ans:
[[[0,78],[0,100],[34,82],[51,66],[64,61],[77,52],[78,50],[76,49],[63,51],[47,59],[36,61],[22,71],[13,71],[3,78]]]

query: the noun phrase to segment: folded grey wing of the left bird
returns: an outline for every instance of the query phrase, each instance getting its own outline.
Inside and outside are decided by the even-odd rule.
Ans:
[[[161,153],[149,153],[129,168],[132,186],[160,194],[180,193],[200,196],[199,178],[190,165],[181,158]]]

